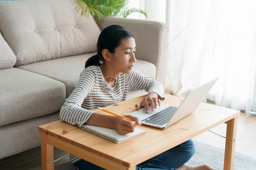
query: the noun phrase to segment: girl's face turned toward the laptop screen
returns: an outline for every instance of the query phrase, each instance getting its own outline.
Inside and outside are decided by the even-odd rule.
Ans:
[[[133,70],[133,63],[136,62],[135,58],[136,44],[133,37],[123,39],[114,53],[111,53],[111,65],[113,71],[130,73]]]

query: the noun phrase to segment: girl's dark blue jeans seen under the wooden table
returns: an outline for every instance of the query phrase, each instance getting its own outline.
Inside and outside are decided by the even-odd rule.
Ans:
[[[179,166],[185,164],[195,154],[193,140],[188,140],[170,150],[165,151],[139,165],[136,170],[177,170]],[[85,160],[74,163],[77,170],[104,170],[97,165]]]

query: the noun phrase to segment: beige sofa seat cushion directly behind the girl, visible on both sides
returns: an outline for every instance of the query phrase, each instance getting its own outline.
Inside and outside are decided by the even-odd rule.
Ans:
[[[54,60],[31,63],[28,65],[20,65],[17,66],[17,68],[28,70],[40,75],[45,75],[52,79],[61,81],[66,86],[66,93],[68,97],[77,85],[79,75],[84,69],[86,60],[92,55],[95,55],[95,53],[74,55]],[[137,60],[134,64],[134,69],[140,71],[148,77],[155,78],[156,67],[148,61]]]

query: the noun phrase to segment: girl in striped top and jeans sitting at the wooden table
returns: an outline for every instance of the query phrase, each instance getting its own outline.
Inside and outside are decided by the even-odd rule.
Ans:
[[[61,120],[79,127],[84,124],[108,127],[120,134],[133,132],[136,125],[141,125],[138,118],[131,115],[126,117],[134,121],[91,111],[97,109],[97,106],[105,107],[124,101],[128,92],[134,90],[148,91],[148,95],[135,105],[137,109],[145,107],[148,112],[148,105],[151,105],[152,111],[160,105],[158,97],[163,96],[163,87],[158,81],[133,70],[135,50],[134,36],[130,31],[119,25],[110,25],[102,30],[97,41],[97,55],[86,61],[75,90],[61,107]],[[210,168],[208,165],[184,165],[194,153],[193,141],[188,140],[138,165],[137,170]],[[74,155],[70,155],[70,159],[77,170],[102,170]]]

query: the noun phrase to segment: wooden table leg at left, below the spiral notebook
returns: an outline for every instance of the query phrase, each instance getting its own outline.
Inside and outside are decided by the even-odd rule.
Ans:
[[[50,162],[49,160],[52,159],[53,161],[53,146],[49,145],[47,142],[47,135],[41,132],[41,163],[42,163],[42,170],[53,170],[54,163]]]

